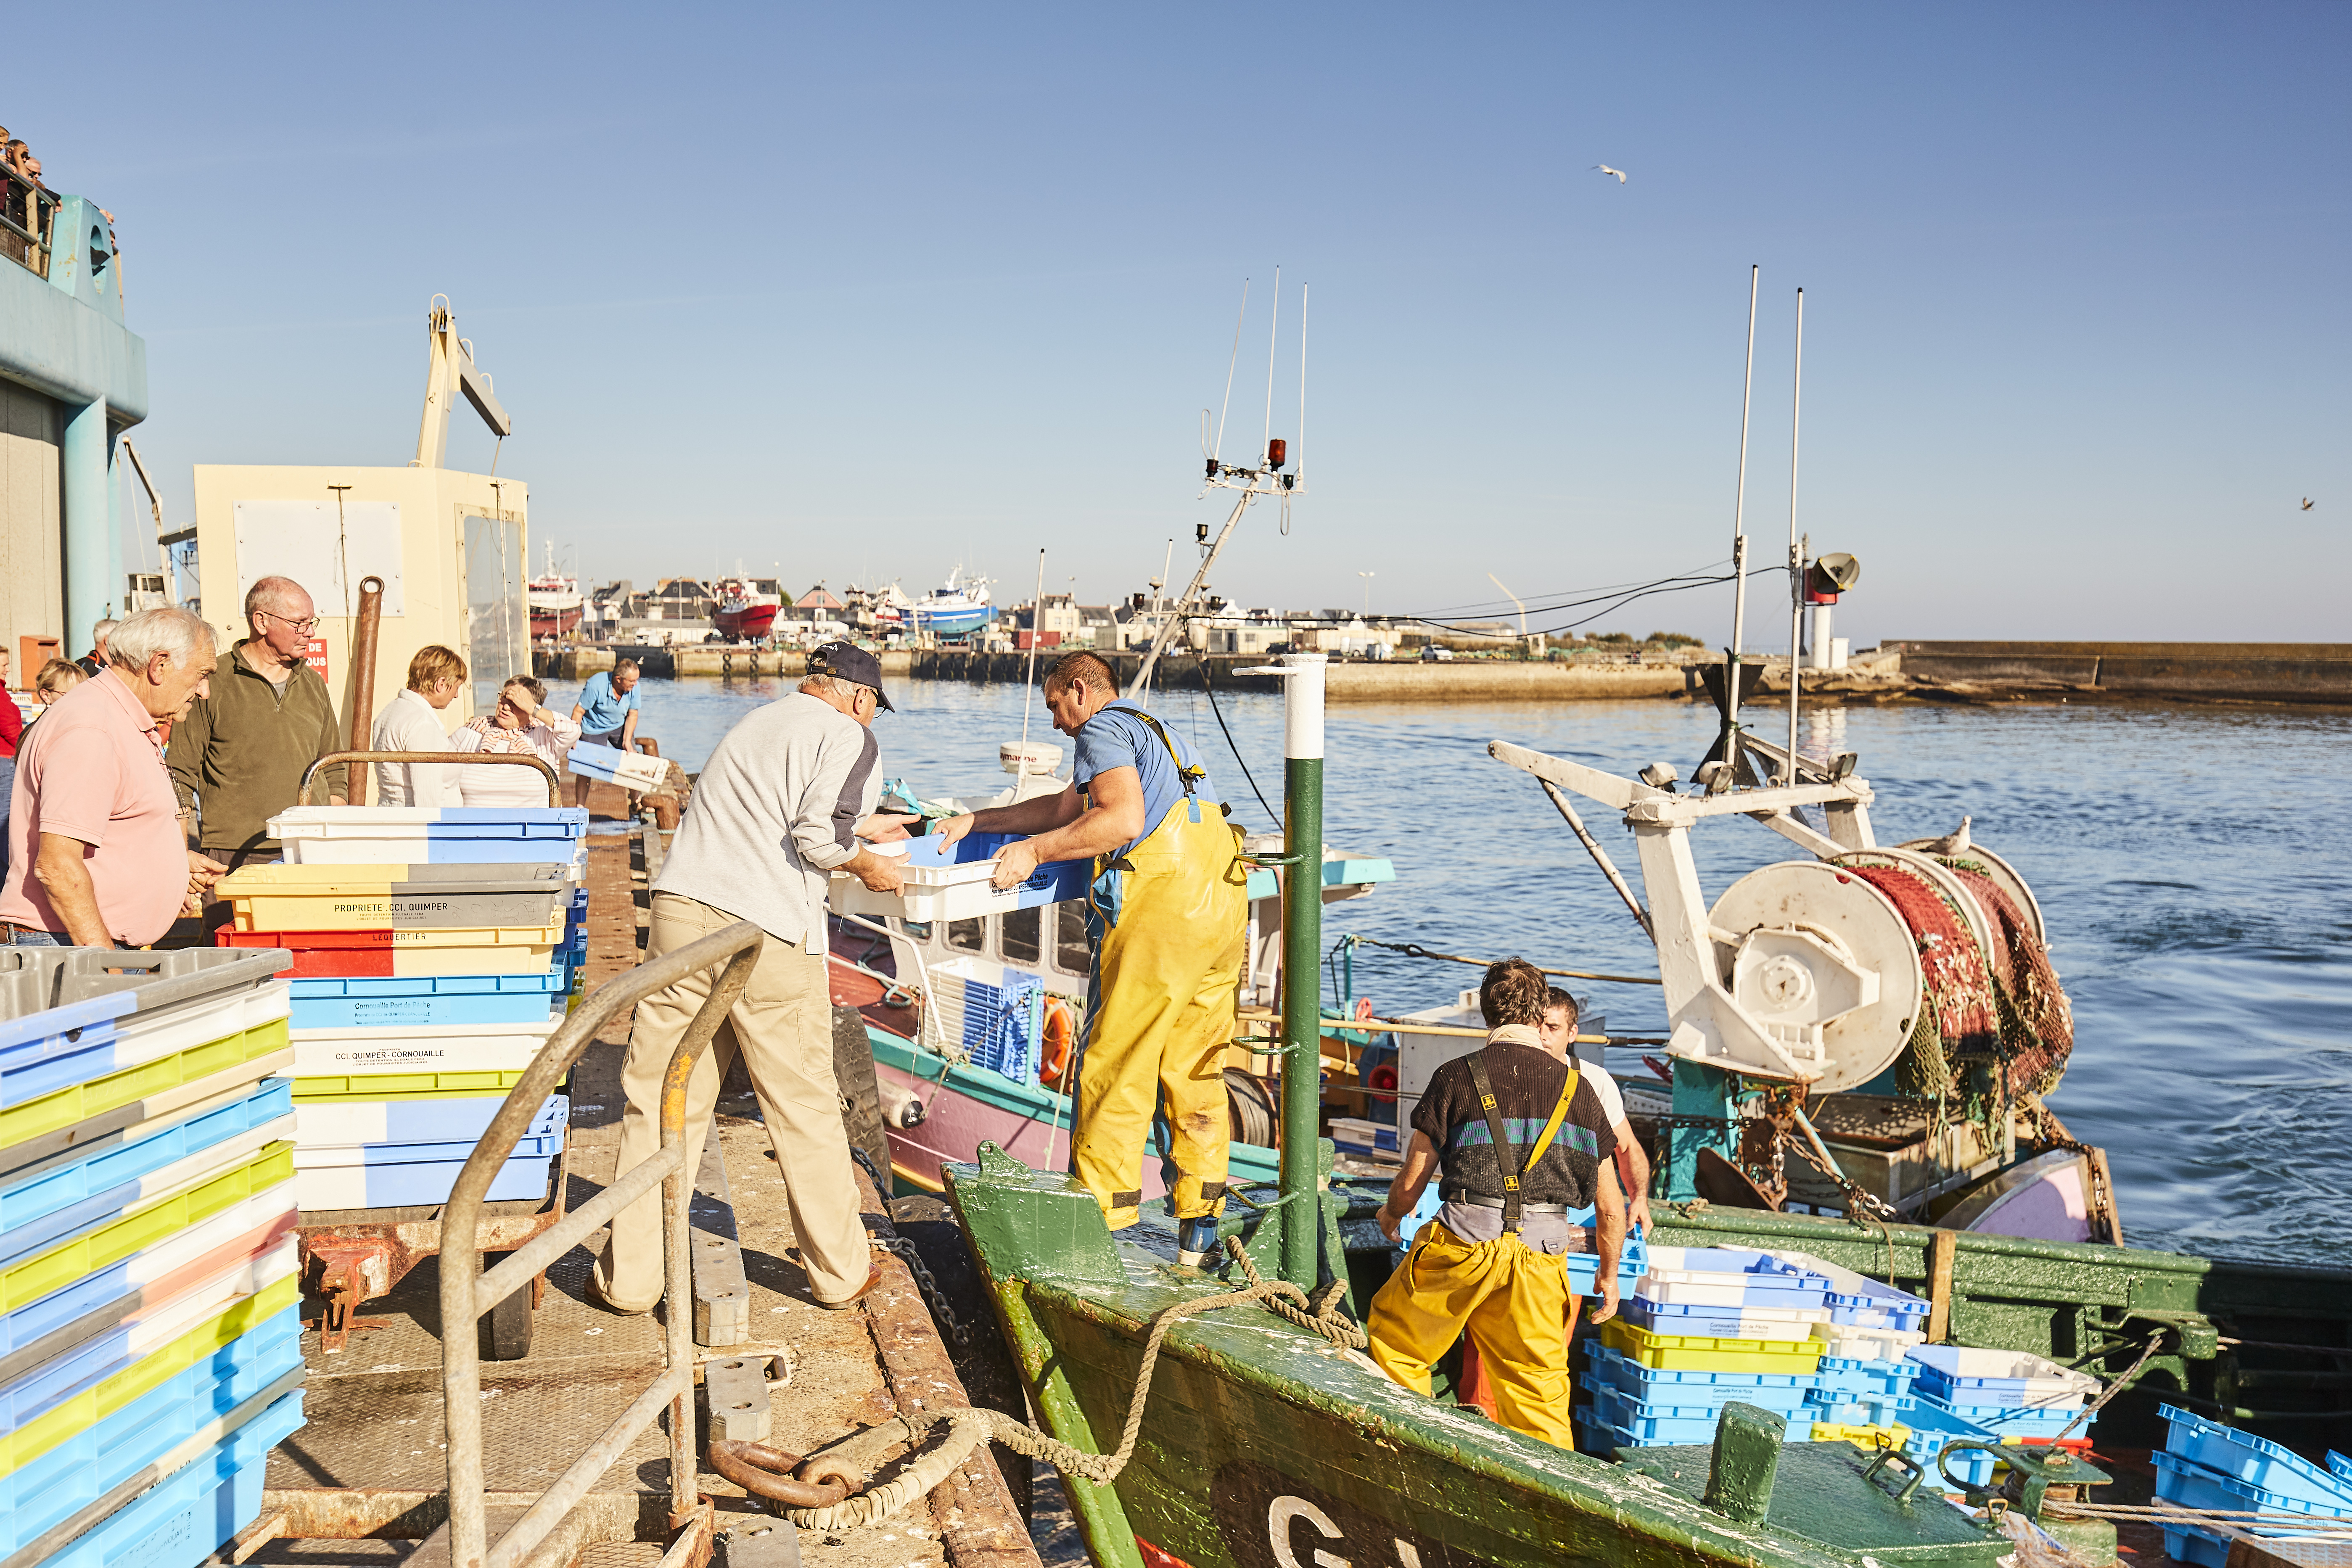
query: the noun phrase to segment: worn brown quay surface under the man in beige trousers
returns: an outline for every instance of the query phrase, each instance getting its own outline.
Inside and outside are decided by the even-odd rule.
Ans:
[[[619,816],[619,790],[597,785],[590,809]],[[612,830],[590,837],[590,987],[635,964],[644,940],[642,858],[635,837],[619,827],[612,823]],[[574,1072],[572,1206],[602,1190],[619,1157],[626,1039],[628,1020],[619,1018]],[[955,1373],[906,1265],[877,1255],[884,1284],[866,1309],[823,1312],[809,1305],[767,1131],[741,1072],[720,1098],[717,1147],[753,1293],[753,1342],[699,1349],[696,1356],[776,1356],[769,1373],[767,1441],[809,1453],[854,1427],[889,1418],[910,1387],[938,1403],[938,1380],[946,1378],[953,1387]],[[863,1173],[858,1180],[875,1215],[870,1225],[880,1225],[882,1204]],[[699,1227],[717,1229],[722,1220],[720,1206],[696,1204]],[[482,1363],[485,1476],[494,1493],[510,1493],[515,1505],[548,1486],[661,1366],[656,1316],[621,1316],[588,1298],[588,1260],[600,1241],[602,1232],[548,1269],[532,1354],[522,1361]],[[423,1540],[440,1523],[437,1493],[447,1483],[437,1293],[437,1267],[426,1260],[393,1295],[367,1302],[362,1319],[381,1326],[353,1333],[348,1349],[325,1354],[318,1333],[306,1333],[308,1422],[270,1455],[263,1519],[287,1509],[296,1533],[339,1526],[372,1537],[273,1540],[249,1561],[383,1561],[419,1568],[445,1561],[440,1542]],[[960,1394],[953,1399],[962,1401]],[[762,1516],[757,1500],[715,1472],[706,1469],[699,1488],[717,1500],[720,1528],[731,1519]],[[576,1512],[579,1554],[572,1561],[583,1568],[656,1563],[666,1512],[666,1439],[654,1429],[597,1481]],[[499,1528],[494,1512],[492,1530]],[[849,1535],[802,1533],[800,1554],[835,1568],[969,1568],[983,1561],[1011,1568],[1016,1561],[1037,1561],[1025,1521],[1014,1512],[985,1453],[880,1528]]]

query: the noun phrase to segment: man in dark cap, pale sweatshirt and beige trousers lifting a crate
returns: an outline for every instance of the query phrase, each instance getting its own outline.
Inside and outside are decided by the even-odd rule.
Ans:
[[[858,839],[903,839],[910,818],[873,816],[882,780],[870,726],[889,708],[880,661],[835,642],[816,649],[809,668],[814,675],[797,693],[755,710],[710,755],[654,879],[647,959],[746,919],[767,933],[750,985],[687,1081],[687,1171],[701,1166],[710,1107],[741,1051],[783,1175],[809,1295],[818,1307],[847,1307],[882,1274],[858,1222],[833,1081],[826,884],[833,872],[849,872],[877,893],[896,891],[898,860]],[[614,1180],[661,1147],[661,1077],[717,976],[703,969],[637,1004],[621,1067],[628,1107]],[[649,1312],[661,1300],[659,1187],[614,1218],[593,1279],[616,1312]]]

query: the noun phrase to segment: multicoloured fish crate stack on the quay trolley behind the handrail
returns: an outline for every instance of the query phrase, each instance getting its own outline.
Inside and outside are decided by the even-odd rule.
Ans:
[[[586,961],[576,809],[299,806],[287,865],[221,879],[223,945],[292,952],[306,1213],[442,1204]],[[548,1095],[489,1199],[539,1199],[569,1098]]]

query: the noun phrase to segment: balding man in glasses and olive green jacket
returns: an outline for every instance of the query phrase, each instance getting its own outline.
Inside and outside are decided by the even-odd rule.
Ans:
[[[259,578],[245,592],[245,623],[252,637],[221,661],[212,696],[172,726],[167,755],[179,799],[198,813],[198,849],[230,870],[278,858],[270,818],[294,804],[303,769],[346,750],[334,696],[306,658],[318,630],[310,595],[294,578]],[[341,806],[341,764],[315,788]]]

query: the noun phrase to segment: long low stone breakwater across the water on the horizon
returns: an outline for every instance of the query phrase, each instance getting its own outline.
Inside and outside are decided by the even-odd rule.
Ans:
[[[790,677],[807,670],[795,649],[715,644],[572,646],[534,656],[548,679],[583,679],[635,658],[654,679]],[[974,649],[887,649],[882,675],[1021,684],[1028,654]],[[1037,658],[1044,670],[1054,651]],[[1105,651],[1120,682],[1134,679],[1141,651]],[[1160,661],[1160,689],[1279,691],[1279,677],[1254,675],[1268,654],[1178,654]],[[1334,661],[1331,703],[1583,703],[1623,698],[1708,701],[1712,649],[1581,658]],[[1745,698],[1788,693],[1788,658],[1750,656]],[[1818,705],[1886,703],[2291,703],[2352,708],[2352,644],[2331,642],[1931,642],[1889,639],[1856,654],[1846,670],[1806,670],[1804,693]]]

